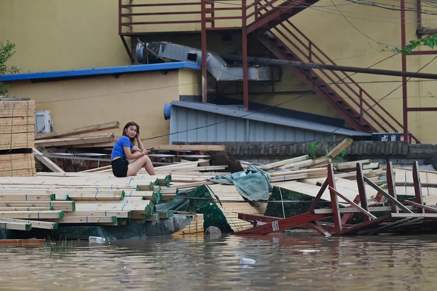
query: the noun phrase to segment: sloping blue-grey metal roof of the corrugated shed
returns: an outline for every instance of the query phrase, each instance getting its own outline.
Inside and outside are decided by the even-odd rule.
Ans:
[[[243,106],[216,105],[210,103],[187,102],[187,101],[173,101],[171,105],[205,111],[205,112],[211,112],[211,113],[225,115],[225,116],[239,117],[244,119],[302,128],[302,129],[318,131],[318,132],[335,133],[335,134],[341,134],[346,136],[371,136],[372,135],[371,133],[368,132],[361,132],[361,131],[341,128],[341,127],[339,128],[331,125],[326,125],[326,124],[317,123],[308,120],[301,120],[293,117],[277,116],[262,111],[256,112],[256,111],[246,110]]]

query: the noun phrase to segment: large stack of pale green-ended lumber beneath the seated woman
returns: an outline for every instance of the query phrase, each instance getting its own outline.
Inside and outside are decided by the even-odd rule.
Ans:
[[[165,180],[168,180],[165,176],[3,177],[0,178],[0,228],[56,229],[63,224],[120,226],[166,219],[173,212],[156,212],[154,207],[161,202],[159,183]],[[29,221],[23,225],[17,219]]]

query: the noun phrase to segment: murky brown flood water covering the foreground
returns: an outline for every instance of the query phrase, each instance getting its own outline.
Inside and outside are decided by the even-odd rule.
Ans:
[[[0,246],[1,290],[435,290],[437,236],[222,235]],[[240,264],[242,257],[256,262]]]

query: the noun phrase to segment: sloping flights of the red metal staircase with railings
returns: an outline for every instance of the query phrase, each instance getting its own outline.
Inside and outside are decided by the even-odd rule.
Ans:
[[[255,20],[248,31],[277,58],[300,62],[335,64],[304,33],[293,25],[289,17],[307,8],[315,0],[282,1],[283,4],[266,7],[276,0],[256,0],[260,7],[248,14]],[[248,22],[249,23],[249,22]],[[402,124],[374,97],[344,72],[289,67],[306,85],[327,102],[352,128],[366,132],[402,132]],[[417,138],[412,138],[419,143]]]

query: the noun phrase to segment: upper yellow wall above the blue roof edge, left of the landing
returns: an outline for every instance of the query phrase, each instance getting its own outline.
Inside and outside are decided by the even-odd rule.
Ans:
[[[16,45],[21,73],[129,65],[118,31],[117,0],[0,0],[0,42]]]

